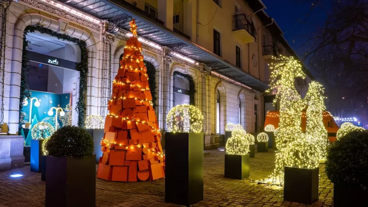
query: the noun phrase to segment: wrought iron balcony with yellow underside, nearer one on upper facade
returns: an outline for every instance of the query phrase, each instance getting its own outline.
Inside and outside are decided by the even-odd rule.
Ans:
[[[233,34],[244,43],[250,43],[255,41],[257,31],[245,14],[238,14],[233,16]]]

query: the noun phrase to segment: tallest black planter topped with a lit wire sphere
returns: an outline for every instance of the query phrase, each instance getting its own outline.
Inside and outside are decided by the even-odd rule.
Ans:
[[[166,118],[165,201],[190,206],[203,200],[203,117],[192,105],[177,105]]]

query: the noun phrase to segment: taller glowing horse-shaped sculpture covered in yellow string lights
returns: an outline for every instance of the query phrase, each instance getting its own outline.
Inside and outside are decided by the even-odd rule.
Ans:
[[[273,57],[276,62],[271,63],[270,89],[276,90],[276,98],[280,101],[280,123],[277,131],[277,151],[275,170],[271,175],[273,184],[281,184],[280,175],[284,173],[284,166],[298,168],[315,168],[319,159],[314,155],[313,144],[305,139],[302,132],[301,112],[307,106],[307,102],[300,97],[294,78],[305,78],[302,66],[294,57]]]

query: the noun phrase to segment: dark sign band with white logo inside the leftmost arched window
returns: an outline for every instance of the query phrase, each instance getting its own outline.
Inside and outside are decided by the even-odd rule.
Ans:
[[[28,51],[27,56],[28,56],[29,61],[36,62],[36,63],[42,63],[45,65],[50,65],[54,67],[62,67],[62,68],[75,70],[75,66],[77,66],[77,63],[75,62],[48,56],[48,55],[43,55],[43,54],[32,52],[32,51]]]

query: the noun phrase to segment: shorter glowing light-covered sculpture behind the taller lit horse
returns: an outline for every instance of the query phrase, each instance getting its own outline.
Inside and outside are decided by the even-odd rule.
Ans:
[[[322,84],[312,81],[305,96],[308,101],[306,136],[307,140],[316,143],[320,159],[326,158],[329,144],[322,115],[323,111],[326,110],[324,91]]]

